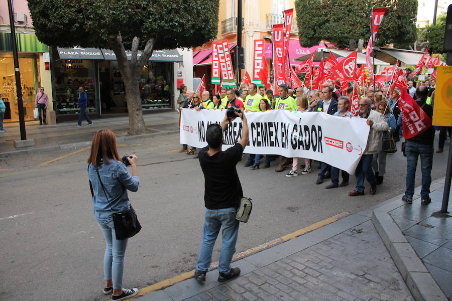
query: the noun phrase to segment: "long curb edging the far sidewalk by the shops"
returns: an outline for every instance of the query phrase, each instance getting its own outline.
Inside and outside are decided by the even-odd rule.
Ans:
[[[177,134],[179,132],[180,132],[179,130],[171,130],[171,131],[158,132],[158,133],[129,135],[129,136],[117,137],[116,141],[121,142],[121,141],[133,140],[133,139],[151,138],[151,137],[156,137],[156,136]],[[15,155],[49,152],[50,150],[77,148],[77,147],[90,146],[90,145],[91,145],[91,141],[81,141],[81,142],[76,142],[76,143],[61,144],[61,145],[54,145],[54,146],[27,147],[26,149],[13,150],[12,152],[0,153],[0,158],[6,158],[6,157],[10,157],[10,156],[15,156]]]

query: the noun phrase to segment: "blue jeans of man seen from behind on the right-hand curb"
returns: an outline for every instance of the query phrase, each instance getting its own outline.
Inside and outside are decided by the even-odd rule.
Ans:
[[[428,198],[431,184],[431,167],[433,165],[433,144],[418,144],[406,141],[406,191],[405,196],[414,195],[414,177],[416,175],[417,158],[421,158],[422,188],[421,197]]]

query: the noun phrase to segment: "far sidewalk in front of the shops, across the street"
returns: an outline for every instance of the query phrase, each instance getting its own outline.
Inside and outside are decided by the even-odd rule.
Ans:
[[[164,112],[145,114],[146,134],[129,135],[129,116],[103,117],[93,120],[92,125],[83,122],[76,127],[77,121],[66,121],[57,124],[39,125],[38,121],[25,123],[27,138],[35,140],[35,146],[15,148],[14,140],[20,140],[19,123],[5,123],[6,132],[0,132],[0,158],[38,151],[90,145],[94,133],[99,129],[110,129],[118,137],[118,141],[147,137],[159,134],[179,132],[179,113]]]

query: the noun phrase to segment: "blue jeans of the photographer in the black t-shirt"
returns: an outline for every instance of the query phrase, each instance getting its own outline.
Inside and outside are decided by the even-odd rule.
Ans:
[[[236,220],[237,208],[205,209],[204,227],[202,229],[201,249],[199,250],[196,269],[207,271],[212,259],[213,245],[222,227],[221,252],[218,271],[228,273],[231,270],[231,260],[236,252],[239,221]]]

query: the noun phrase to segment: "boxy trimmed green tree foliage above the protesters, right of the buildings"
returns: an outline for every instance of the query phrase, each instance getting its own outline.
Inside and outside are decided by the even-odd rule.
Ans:
[[[371,35],[370,9],[386,7],[376,45],[405,48],[416,39],[417,0],[296,0],[298,31],[303,47],[330,41],[340,48]],[[315,13],[314,13],[315,12]]]

